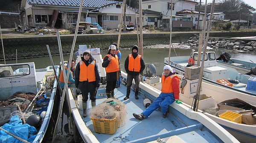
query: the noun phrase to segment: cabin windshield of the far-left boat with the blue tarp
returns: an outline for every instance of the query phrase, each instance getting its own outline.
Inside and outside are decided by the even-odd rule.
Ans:
[[[0,78],[20,75],[29,75],[29,65],[0,65]]]

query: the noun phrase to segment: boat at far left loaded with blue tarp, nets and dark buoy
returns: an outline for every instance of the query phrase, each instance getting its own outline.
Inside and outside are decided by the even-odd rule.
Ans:
[[[54,68],[58,76],[59,66]],[[42,142],[52,112],[58,109],[57,82],[52,66],[36,69],[34,62],[0,64],[1,141]]]

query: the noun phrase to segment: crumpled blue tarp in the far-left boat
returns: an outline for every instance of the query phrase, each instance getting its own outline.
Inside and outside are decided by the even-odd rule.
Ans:
[[[15,115],[10,118],[10,122],[1,126],[1,128],[6,131],[22,138],[23,140],[27,140],[32,143],[35,140],[37,130],[34,126],[30,126],[25,123],[22,124],[22,121],[19,119],[18,115]],[[4,130],[0,130],[0,143],[23,143],[22,141],[12,137],[7,134]]]

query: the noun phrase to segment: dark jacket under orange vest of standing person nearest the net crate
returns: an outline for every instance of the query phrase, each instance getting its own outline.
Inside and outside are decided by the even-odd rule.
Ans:
[[[81,61],[84,62],[84,64],[86,66],[88,66],[89,64],[91,64],[94,61],[94,58],[91,56],[90,59],[88,61],[86,61],[84,59],[83,56],[81,56]],[[94,61],[95,62],[95,61]],[[80,63],[78,63],[76,65],[76,73],[75,73],[75,85],[76,87],[78,87],[81,92],[92,92],[96,90],[96,87],[99,87],[100,84],[100,76],[99,76],[99,70],[98,70],[98,65],[95,62],[95,66],[94,66],[94,74],[95,74],[95,78],[96,81],[79,81],[79,76],[80,76]]]

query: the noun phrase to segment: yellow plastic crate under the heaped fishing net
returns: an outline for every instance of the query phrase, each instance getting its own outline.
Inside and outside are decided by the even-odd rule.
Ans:
[[[116,129],[119,127],[119,120],[114,119],[99,119],[99,118],[90,118],[93,121],[94,131],[102,134],[113,134],[116,132]]]

